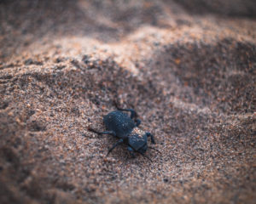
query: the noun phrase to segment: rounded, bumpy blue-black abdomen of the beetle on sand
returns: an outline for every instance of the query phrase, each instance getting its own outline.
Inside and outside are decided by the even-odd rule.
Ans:
[[[103,122],[108,130],[112,130],[119,138],[129,135],[135,127],[131,118],[121,111],[113,111],[104,116]]]

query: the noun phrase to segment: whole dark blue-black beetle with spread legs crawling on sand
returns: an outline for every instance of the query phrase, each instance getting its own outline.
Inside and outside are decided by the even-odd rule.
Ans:
[[[98,134],[110,134],[119,139],[119,141],[116,144],[113,144],[108,150],[107,156],[119,144],[127,144],[127,149],[132,157],[135,157],[134,152],[138,152],[142,156],[148,158],[148,156],[144,155],[148,150],[148,137],[150,137],[151,143],[155,144],[154,136],[151,133],[144,132],[138,128],[141,124],[141,120],[135,119],[137,116],[136,111],[133,109],[117,109],[117,111],[109,112],[108,115],[103,116],[103,122],[108,131],[98,132],[90,127],[88,130]],[[131,112],[131,116],[128,116],[123,111]],[[149,148],[154,149],[153,147]],[[150,160],[150,158],[148,158],[148,160]]]

